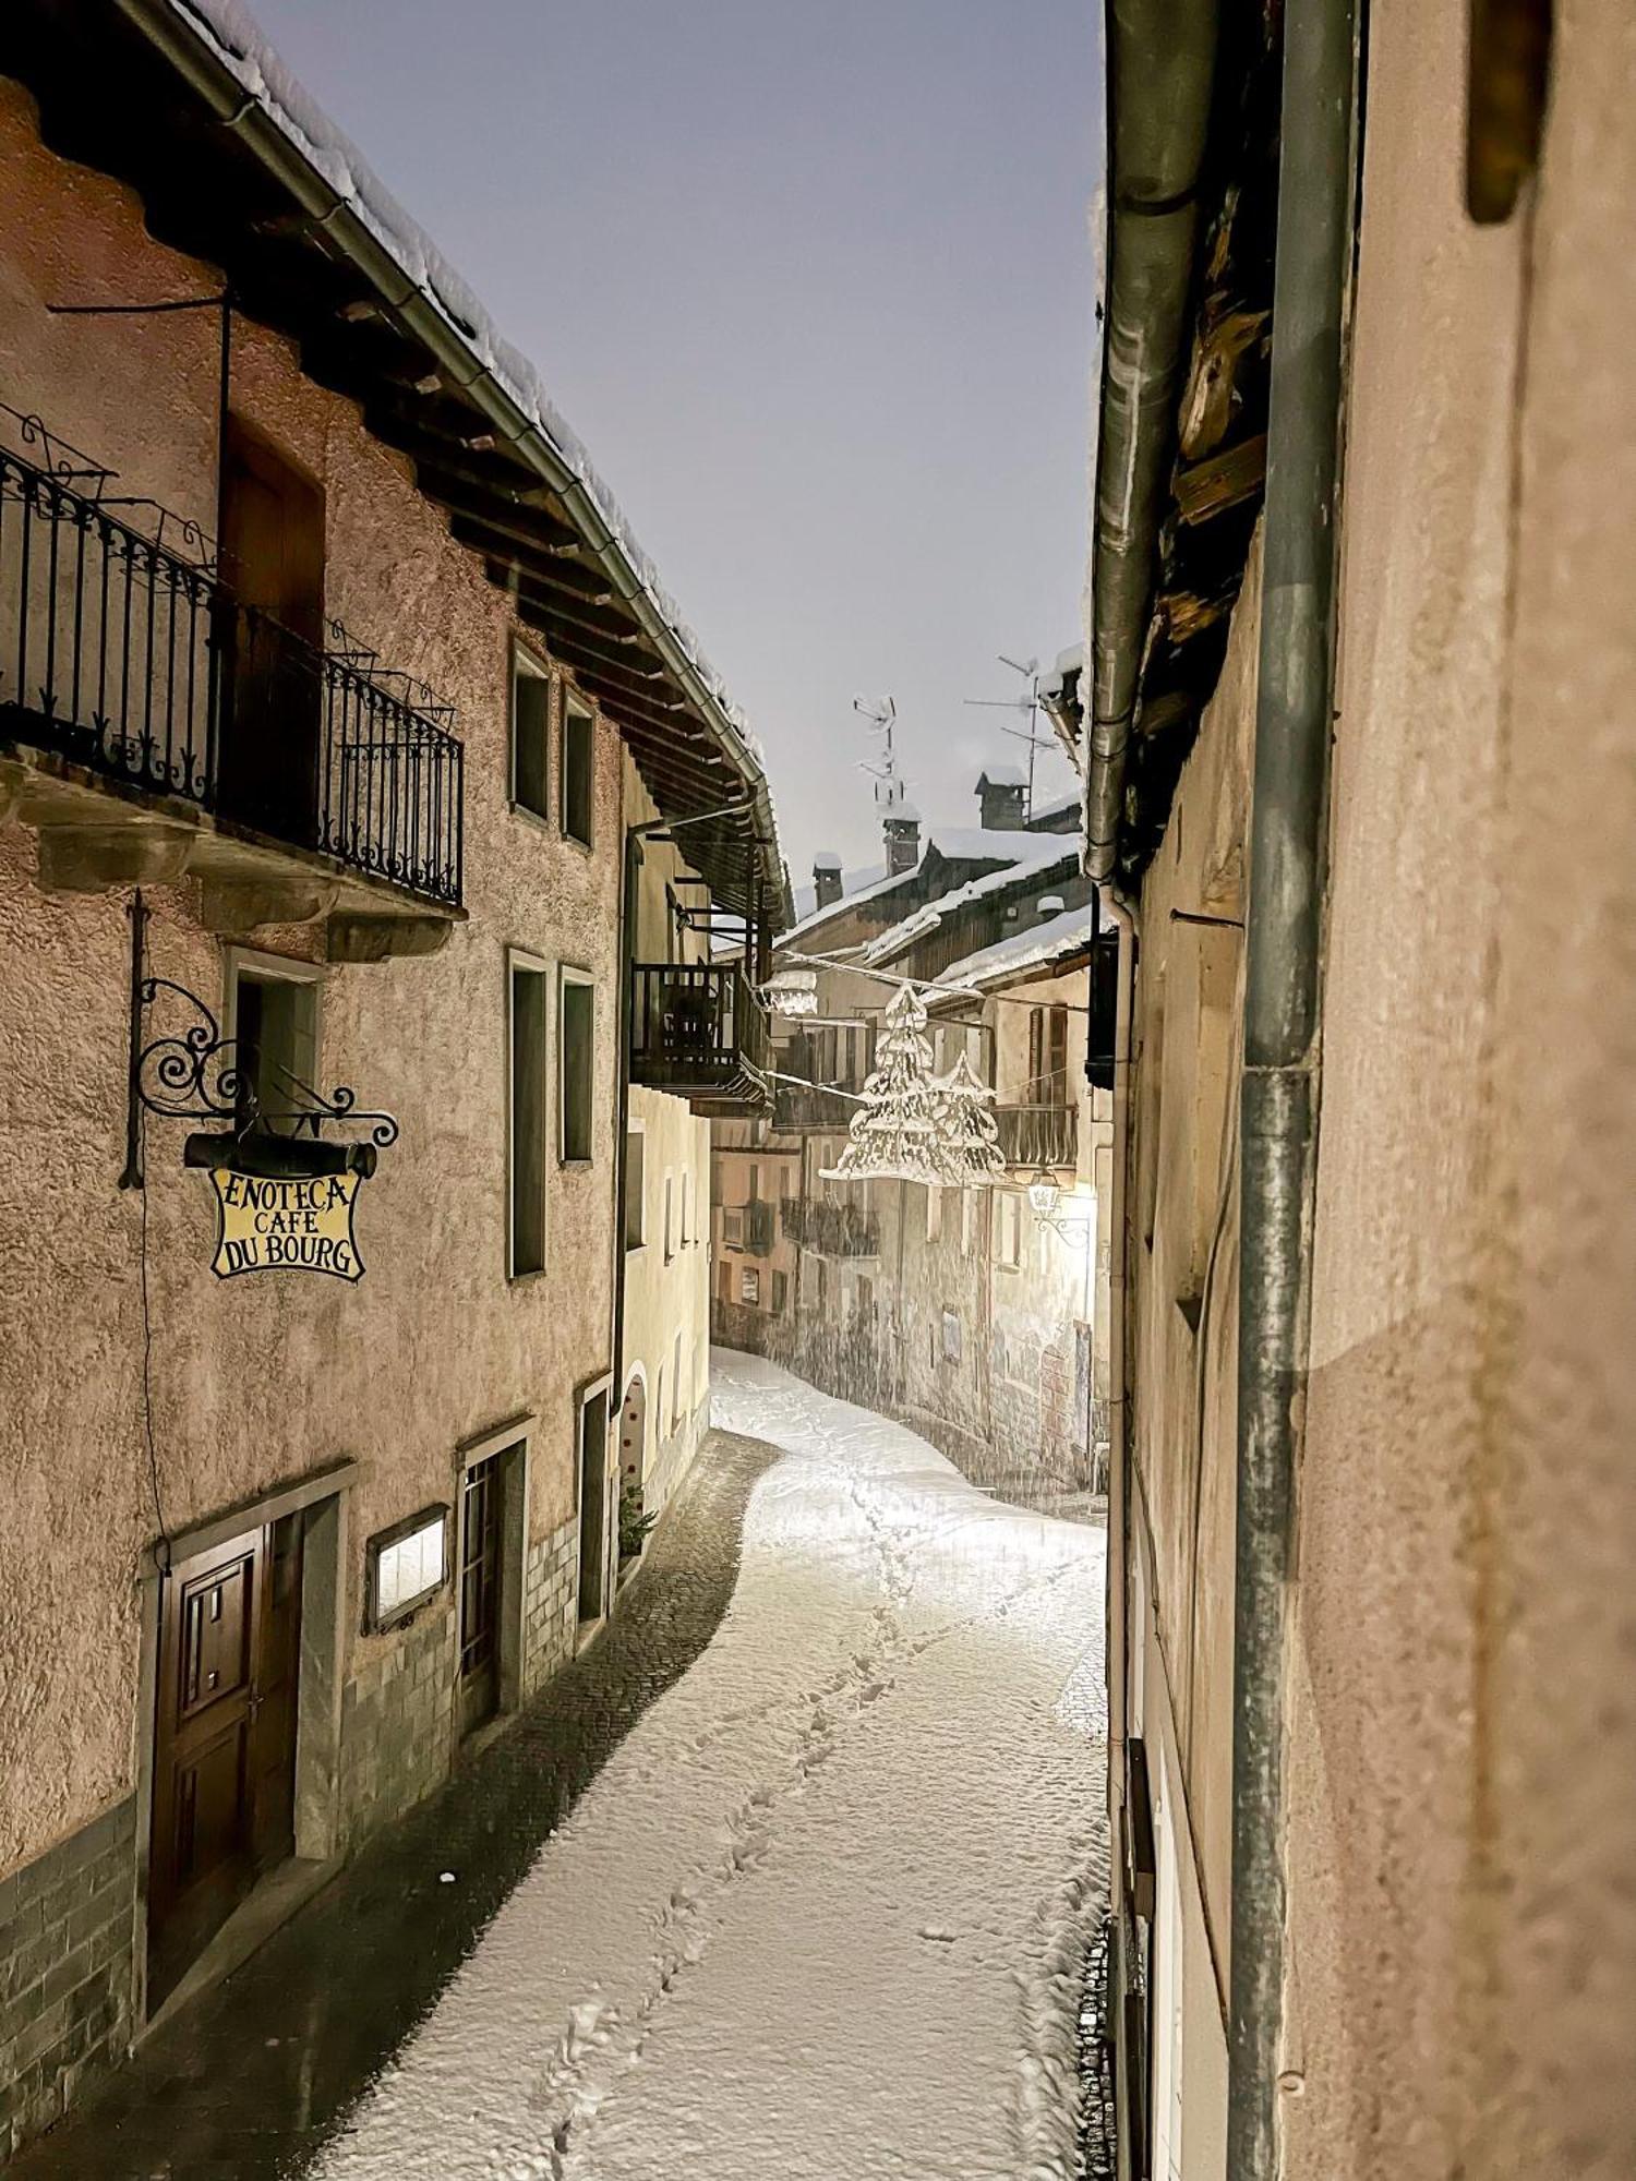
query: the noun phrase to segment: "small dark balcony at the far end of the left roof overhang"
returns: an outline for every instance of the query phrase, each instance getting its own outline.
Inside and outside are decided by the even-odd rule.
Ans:
[[[770,1104],[768,1016],[737,962],[630,966],[630,1082],[674,1090],[694,1112]]]

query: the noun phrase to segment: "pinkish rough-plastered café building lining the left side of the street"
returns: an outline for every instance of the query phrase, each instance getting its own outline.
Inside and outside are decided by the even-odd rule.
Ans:
[[[707,1394],[643,964],[713,1005],[783,896],[582,449],[242,26],[0,22],[0,2148],[611,1610]]]

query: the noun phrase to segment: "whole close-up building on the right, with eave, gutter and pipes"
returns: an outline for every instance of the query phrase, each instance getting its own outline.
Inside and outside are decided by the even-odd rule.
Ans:
[[[1361,26],[1108,9],[1121,2174],[1616,2181],[1636,15]]]

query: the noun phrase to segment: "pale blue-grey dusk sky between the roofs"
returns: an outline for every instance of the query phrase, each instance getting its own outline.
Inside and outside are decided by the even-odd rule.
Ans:
[[[748,713],[790,872],[1021,761],[997,652],[1078,639],[1088,0],[253,0],[541,369]],[[1069,783],[1047,757],[1040,781]]]

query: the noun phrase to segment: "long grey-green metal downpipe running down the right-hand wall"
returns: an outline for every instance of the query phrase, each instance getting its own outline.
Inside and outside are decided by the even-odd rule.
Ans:
[[[1228,2181],[1276,2181],[1357,0],[1289,0],[1241,1077]]]

